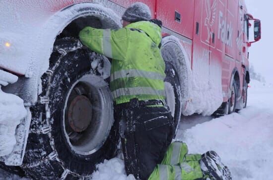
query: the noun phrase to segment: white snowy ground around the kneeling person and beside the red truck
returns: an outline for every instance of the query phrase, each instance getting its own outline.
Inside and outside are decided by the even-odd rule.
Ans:
[[[183,118],[177,138],[190,153],[216,151],[230,167],[234,180],[273,177],[273,87],[252,81],[248,107],[221,118],[194,115]],[[92,180],[132,180],[123,161],[114,158],[98,165]],[[0,180],[26,180],[0,170]]]

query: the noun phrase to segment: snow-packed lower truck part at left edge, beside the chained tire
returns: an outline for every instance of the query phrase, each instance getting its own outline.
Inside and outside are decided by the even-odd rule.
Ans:
[[[22,164],[31,122],[23,100],[1,90],[16,81],[17,76],[0,70],[0,161],[9,166]]]

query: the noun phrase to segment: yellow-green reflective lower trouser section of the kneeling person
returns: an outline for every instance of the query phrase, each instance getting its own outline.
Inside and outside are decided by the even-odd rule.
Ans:
[[[197,180],[205,179],[200,167],[201,154],[188,154],[182,142],[168,147],[161,164],[157,165],[148,180]]]

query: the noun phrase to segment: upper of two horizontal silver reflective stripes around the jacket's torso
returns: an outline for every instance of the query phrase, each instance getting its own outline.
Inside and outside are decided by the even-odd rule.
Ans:
[[[114,81],[119,78],[125,78],[125,77],[144,77],[148,79],[158,79],[158,80],[164,80],[165,76],[158,73],[158,72],[149,72],[149,71],[143,71],[143,70],[137,70],[137,69],[128,69],[128,70],[121,70],[114,72],[111,74],[111,81]]]

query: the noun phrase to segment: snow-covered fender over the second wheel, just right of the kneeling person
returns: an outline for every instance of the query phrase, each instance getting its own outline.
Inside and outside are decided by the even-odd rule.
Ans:
[[[191,61],[185,48],[175,36],[165,36],[161,42],[161,53],[165,61],[171,61],[172,64],[175,65],[179,74],[182,114],[193,114],[194,110],[191,108],[192,69],[190,64]]]

